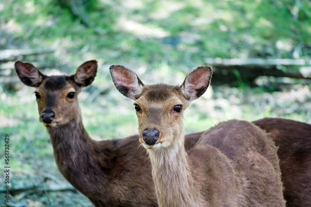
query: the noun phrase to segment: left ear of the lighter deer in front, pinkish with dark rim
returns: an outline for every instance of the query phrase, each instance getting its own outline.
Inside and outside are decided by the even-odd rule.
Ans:
[[[131,99],[138,99],[144,84],[137,74],[122,65],[111,65],[110,74],[114,85],[120,93]]]

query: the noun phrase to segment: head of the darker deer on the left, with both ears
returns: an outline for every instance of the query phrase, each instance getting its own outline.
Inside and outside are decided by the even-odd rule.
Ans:
[[[97,62],[87,61],[71,76],[46,76],[30,63],[15,63],[21,81],[35,87],[39,121],[46,127],[58,127],[80,119],[78,94],[81,87],[90,85],[96,75]]]

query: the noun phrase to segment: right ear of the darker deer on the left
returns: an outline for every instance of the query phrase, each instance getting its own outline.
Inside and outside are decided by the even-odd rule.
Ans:
[[[77,72],[73,78],[78,86],[88,86],[91,85],[95,79],[96,72],[97,61],[87,61],[78,67]]]

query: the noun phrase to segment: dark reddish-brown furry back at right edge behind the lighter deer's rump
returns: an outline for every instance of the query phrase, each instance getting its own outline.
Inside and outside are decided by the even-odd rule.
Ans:
[[[277,153],[287,205],[311,206],[311,125],[275,118],[253,123],[271,132],[276,146],[279,146]]]

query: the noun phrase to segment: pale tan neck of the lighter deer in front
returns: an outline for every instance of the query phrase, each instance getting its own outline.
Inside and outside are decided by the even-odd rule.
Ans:
[[[167,148],[147,150],[159,206],[202,206],[183,147],[184,134],[178,136],[175,140],[180,142],[174,142]]]

